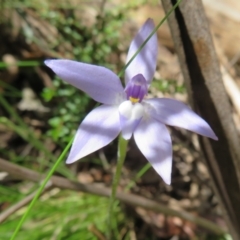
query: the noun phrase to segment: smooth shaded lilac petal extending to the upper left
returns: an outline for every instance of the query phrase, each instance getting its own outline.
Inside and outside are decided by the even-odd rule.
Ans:
[[[97,102],[118,104],[126,99],[119,77],[107,68],[65,59],[46,60],[45,64]]]

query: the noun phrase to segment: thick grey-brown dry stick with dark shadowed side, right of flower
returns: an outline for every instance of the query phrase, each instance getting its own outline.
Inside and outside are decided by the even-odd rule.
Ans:
[[[162,0],[167,12],[175,0]],[[240,140],[201,0],[182,1],[168,18],[192,106],[219,138],[200,138],[233,239],[240,239]]]

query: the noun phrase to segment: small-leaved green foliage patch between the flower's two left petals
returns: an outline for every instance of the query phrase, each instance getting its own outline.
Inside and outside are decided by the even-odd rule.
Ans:
[[[47,136],[64,146],[85,116],[90,99],[60,79],[55,79],[53,83],[55,90],[45,88],[42,92],[45,101],[56,103],[53,107],[53,117],[48,120],[50,128]]]

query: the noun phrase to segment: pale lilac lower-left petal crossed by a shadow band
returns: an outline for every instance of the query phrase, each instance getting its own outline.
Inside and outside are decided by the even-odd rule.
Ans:
[[[79,126],[67,163],[73,163],[106,146],[117,137],[119,132],[118,108],[107,105],[95,108]]]

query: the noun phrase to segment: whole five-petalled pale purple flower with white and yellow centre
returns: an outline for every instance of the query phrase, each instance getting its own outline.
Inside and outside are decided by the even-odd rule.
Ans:
[[[127,62],[153,29],[154,23],[148,19],[130,45]],[[122,132],[126,140],[134,136],[140,151],[170,184],[172,142],[165,124],[217,140],[209,125],[185,104],[168,98],[144,98],[156,69],[157,46],[154,34],[126,69],[125,89],[107,68],[71,60],[45,61],[60,78],[103,104],[80,124],[67,163],[106,146]]]

